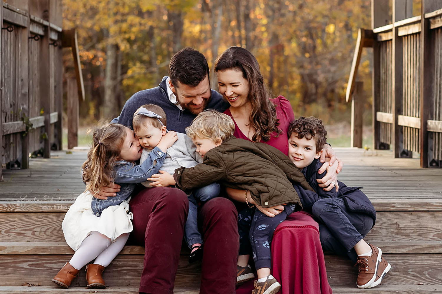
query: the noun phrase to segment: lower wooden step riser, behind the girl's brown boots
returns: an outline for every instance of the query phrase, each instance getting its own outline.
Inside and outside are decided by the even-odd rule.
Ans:
[[[383,285],[439,285],[442,282],[442,254],[382,254],[392,269],[382,281]],[[0,285],[20,286],[22,283],[51,286],[51,279],[70,256],[67,255],[0,255]],[[188,255],[182,255],[175,278],[176,287],[198,285],[201,264],[189,264]],[[118,255],[104,272],[109,286],[137,287],[143,269],[143,255]],[[325,255],[328,281],[331,287],[353,287],[357,268],[353,263],[335,255]],[[122,272],[125,274],[122,275]],[[82,286],[85,271],[81,270],[73,286]]]

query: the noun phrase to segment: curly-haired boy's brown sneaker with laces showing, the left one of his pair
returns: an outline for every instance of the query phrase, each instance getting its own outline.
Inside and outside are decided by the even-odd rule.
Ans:
[[[356,286],[360,289],[368,288],[374,282],[376,279],[377,268],[381,262],[382,250],[371,244],[369,244],[369,246],[372,250],[371,256],[358,256],[358,262],[354,265],[359,266]]]

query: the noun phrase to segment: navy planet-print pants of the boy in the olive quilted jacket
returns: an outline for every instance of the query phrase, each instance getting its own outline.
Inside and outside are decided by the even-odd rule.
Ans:
[[[251,251],[256,269],[271,268],[273,233],[296,209],[296,204],[284,206],[284,210],[274,217],[266,216],[258,209],[244,209],[238,213],[240,255],[250,254]]]

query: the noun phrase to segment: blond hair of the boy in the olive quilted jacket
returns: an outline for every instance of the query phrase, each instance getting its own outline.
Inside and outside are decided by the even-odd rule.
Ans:
[[[191,139],[198,137],[216,141],[217,138],[220,138],[221,142],[231,137],[234,132],[235,123],[232,118],[213,109],[200,112],[191,126],[186,128],[186,134]]]

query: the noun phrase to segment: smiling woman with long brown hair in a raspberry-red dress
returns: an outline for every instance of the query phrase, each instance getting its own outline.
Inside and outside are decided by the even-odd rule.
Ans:
[[[266,143],[287,155],[287,131],[290,122],[294,120],[293,109],[290,102],[282,96],[270,98],[255,56],[244,48],[231,47],[218,56],[215,72],[220,93],[230,104],[225,114],[231,116],[235,123],[234,136]],[[245,190],[226,188],[226,191],[229,197],[237,201],[255,204]],[[271,217],[280,214],[285,209],[284,205],[270,208],[263,208],[256,204],[255,206],[256,209]],[[244,208],[244,210],[250,209],[245,204]],[[241,276],[241,269],[247,268],[248,255],[251,252],[250,242],[248,242],[249,229],[250,227],[240,232],[237,283],[247,280]],[[245,231],[245,234],[242,231]],[[287,220],[279,224],[271,244],[263,246],[272,247],[271,268],[273,271],[270,272],[270,268],[259,268],[258,278],[270,279],[269,275],[272,274],[281,283],[283,294],[331,293],[325,271],[324,254],[320,245],[318,224],[310,215],[293,212]],[[304,262],[306,260],[308,262]],[[311,266],[312,264],[317,266]],[[256,283],[255,287],[263,283]],[[265,285],[261,286],[265,287]],[[250,293],[252,287],[251,284],[244,284],[236,293]]]

